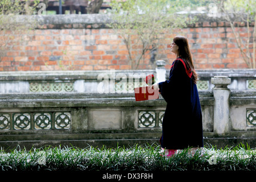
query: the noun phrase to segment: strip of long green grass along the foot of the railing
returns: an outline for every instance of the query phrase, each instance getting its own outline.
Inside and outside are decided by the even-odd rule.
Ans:
[[[245,149],[246,148],[246,149]],[[0,151],[0,171],[256,171],[256,150],[206,147],[189,155],[189,148],[167,158],[160,146],[130,148],[44,147]]]

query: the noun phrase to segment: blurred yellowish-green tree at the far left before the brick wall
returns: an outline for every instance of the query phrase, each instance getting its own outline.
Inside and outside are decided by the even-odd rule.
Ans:
[[[5,55],[7,49],[15,46],[23,39],[24,32],[37,26],[35,19],[30,16],[34,13],[39,1],[28,6],[28,0],[1,0],[0,1],[0,56]],[[0,59],[1,61],[2,59]]]

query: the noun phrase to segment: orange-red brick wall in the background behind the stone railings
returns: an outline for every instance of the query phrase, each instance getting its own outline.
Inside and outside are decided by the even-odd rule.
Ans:
[[[56,16],[52,16],[52,19],[56,19]],[[107,20],[101,18],[104,15],[98,15],[103,20],[90,22],[86,22],[84,16],[72,15],[68,20],[64,19],[64,23],[51,22],[51,17],[47,16],[42,27],[22,35],[0,31],[0,39],[9,35],[15,37],[1,56],[0,71],[130,69],[125,44],[120,36],[105,26]],[[60,17],[64,16],[57,16],[58,19]],[[80,22],[77,19],[81,19]],[[247,36],[245,27],[236,31],[242,37]],[[250,31],[253,32],[253,27]],[[232,29],[225,22],[201,20],[191,27],[164,35],[159,51],[167,64],[175,59],[175,55],[166,47],[175,35],[188,38],[196,69],[247,68]],[[16,40],[17,36],[22,39]],[[137,51],[133,49],[134,54]],[[147,55],[139,69],[154,66],[150,55]]]

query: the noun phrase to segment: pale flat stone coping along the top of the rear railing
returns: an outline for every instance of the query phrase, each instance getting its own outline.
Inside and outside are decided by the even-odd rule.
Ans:
[[[141,69],[141,70],[113,70],[115,74],[124,73],[131,76],[135,74],[148,75],[149,73],[156,73],[155,69]],[[256,69],[205,69],[197,70],[200,78],[208,78],[214,76],[228,76],[228,77],[256,77]],[[100,71],[20,71],[20,72],[0,72],[0,81],[18,81],[18,80],[82,80],[93,79],[97,80],[101,73],[110,74],[110,70]],[[169,77],[169,70],[166,72],[166,77]]]

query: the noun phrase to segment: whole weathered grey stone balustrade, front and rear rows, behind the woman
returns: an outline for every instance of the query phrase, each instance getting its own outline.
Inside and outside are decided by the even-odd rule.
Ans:
[[[1,72],[0,147],[159,144],[166,102],[161,96],[136,102],[133,90],[157,69],[115,71],[113,77],[111,70]],[[106,81],[100,74],[113,81],[113,93],[98,93]],[[254,74],[250,69],[201,71],[201,78],[210,80],[207,86],[205,82],[197,86],[205,144],[225,147],[248,142],[255,147],[256,87],[246,86],[248,80],[255,82]],[[126,87],[117,75],[126,75]]]

